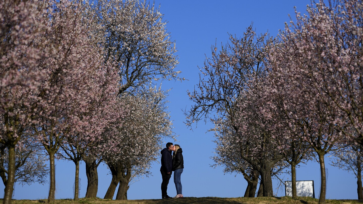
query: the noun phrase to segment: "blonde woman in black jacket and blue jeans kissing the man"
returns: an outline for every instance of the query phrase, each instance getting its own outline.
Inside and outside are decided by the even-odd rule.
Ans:
[[[181,193],[181,182],[180,182],[180,176],[181,173],[183,173],[184,168],[184,160],[183,155],[181,154],[183,150],[181,150],[180,146],[178,144],[174,145],[174,153],[173,153],[173,168],[172,171],[174,171],[174,183],[176,188],[176,196],[177,197],[183,197],[183,194]]]

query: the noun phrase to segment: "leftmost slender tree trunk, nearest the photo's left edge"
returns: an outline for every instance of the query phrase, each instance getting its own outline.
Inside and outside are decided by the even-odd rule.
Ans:
[[[11,204],[15,182],[15,146],[9,145],[9,164],[8,164],[8,180],[4,189],[3,204]]]

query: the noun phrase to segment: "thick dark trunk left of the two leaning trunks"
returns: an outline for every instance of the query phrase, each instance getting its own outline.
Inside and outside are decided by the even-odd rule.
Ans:
[[[86,198],[97,197],[98,191],[98,173],[96,159],[83,159],[86,163],[86,175],[87,175],[87,192]]]

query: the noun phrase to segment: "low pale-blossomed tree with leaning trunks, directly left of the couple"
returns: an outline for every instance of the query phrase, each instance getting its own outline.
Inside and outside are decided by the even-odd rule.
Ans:
[[[162,138],[174,138],[166,106],[166,91],[146,87],[139,95],[125,95],[130,114],[119,121],[122,125],[106,132],[103,160],[112,174],[105,199],[112,199],[119,184],[116,200],[127,200],[129,182],[150,174],[152,162],[159,156]]]

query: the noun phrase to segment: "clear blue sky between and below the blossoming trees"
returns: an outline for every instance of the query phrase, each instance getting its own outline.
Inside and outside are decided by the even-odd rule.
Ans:
[[[246,27],[253,21],[257,33],[268,32],[272,36],[284,29],[284,22],[289,22],[288,14],[294,16],[294,6],[301,13],[306,13],[310,0],[155,0],[160,4],[164,20],[168,21],[167,30],[176,41],[179,56],[178,70],[181,77],[189,81],[164,82],[165,89],[172,88],[168,97],[169,111],[174,120],[174,132],[179,135],[175,144],[183,148],[184,171],[181,174],[184,196],[193,197],[242,197],[247,186],[243,177],[238,174],[223,174],[223,168],[213,169],[211,164],[215,144],[213,132],[206,132],[211,124],[198,123],[193,131],[184,125],[185,116],[181,109],[190,108],[186,90],[193,90],[199,82],[199,69],[203,66],[205,54],[211,55],[211,45],[225,43],[228,33],[242,36]],[[169,142],[169,141],[166,141]],[[171,141],[173,142],[173,141]],[[160,160],[160,159],[159,159]],[[327,199],[358,199],[356,179],[353,174],[330,166],[326,158]],[[127,192],[129,199],[160,199],[160,164],[152,166],[152,176],[140,179],[131,184]],[[56,199],[73,198],[75,167],[73,162],[56,162]],[[103,198],[109,187],[111,175],[102,164],[98,167],[98,197]],[[80,166],[81,191],[84,197],[87,188],[85,164]],[[286,175],[282,180],[290,180]],[[297,169],[297,180],[314,180],[315,196],[320,192],[320,173],[317,162],[302,164]],[[3,189],[2,187],[1,189]],[[274,193],[285,196],[284,188],[277,191],[274,181]],[[282,190],[281,190],[282,189]],[[14,199],[45,199],[48,197],[49,184],[15,186]],[[168,185],[168,195],[175,196],[173,178]],[[116,193],[115,193],[116,196]]]

